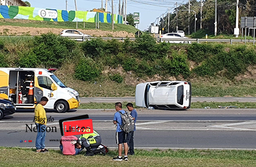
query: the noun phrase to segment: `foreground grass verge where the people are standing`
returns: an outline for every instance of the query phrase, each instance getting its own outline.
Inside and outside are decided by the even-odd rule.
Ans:
[[[135,149],[129,161],[113,161],[117,151],[106,156],[64,156],[60,151],[35,153],[35,149],[0,147],[1,166],[256,166],[256,151]]]

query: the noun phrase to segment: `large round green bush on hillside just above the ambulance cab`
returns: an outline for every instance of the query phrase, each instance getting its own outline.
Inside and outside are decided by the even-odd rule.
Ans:
[[[35,37],[34,53],[46,68],[59,68],[76,47],[76,42],[52,33]]]

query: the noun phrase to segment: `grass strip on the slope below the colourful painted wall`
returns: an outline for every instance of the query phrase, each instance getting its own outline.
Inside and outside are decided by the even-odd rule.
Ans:
[[[76,22],[47,22],[36,20],[0,19],[0,26],[76,29]],[[95,23],[85,23],[84,28],[84,22],[78,22],[78,28],[86,30],[96,29]],[[112,31],[112,23],[100,23],[100,30]],[[114,31],[127,31],[135,33],[138,31],[138,29],[126,24],[114,24]]]

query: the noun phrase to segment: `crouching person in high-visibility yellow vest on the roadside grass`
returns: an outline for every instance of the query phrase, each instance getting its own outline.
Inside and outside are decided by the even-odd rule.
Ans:
[[[82,149],[86,149],[85,156],[94,156],[97,153],[106,155],[105,148],[97,149],[101,145],[101,136],[98,132],[93,130],[93,133],[82,134],[79,139]]]

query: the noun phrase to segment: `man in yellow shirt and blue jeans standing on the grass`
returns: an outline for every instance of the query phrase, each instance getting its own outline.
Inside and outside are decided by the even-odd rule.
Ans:
[[[36,124],[36,129],[38,130],[38,135],[36,136],[36,153],[46,153],[48,152],[48,149],[44,148],[46,145],[44,144],[44,141],[46,140],[46,110],[44,110],[44,107],[46,103],[48,102],[47,97],[42,97],[41,101],[36,105],[35,107],[35,117],[34,121]]]

